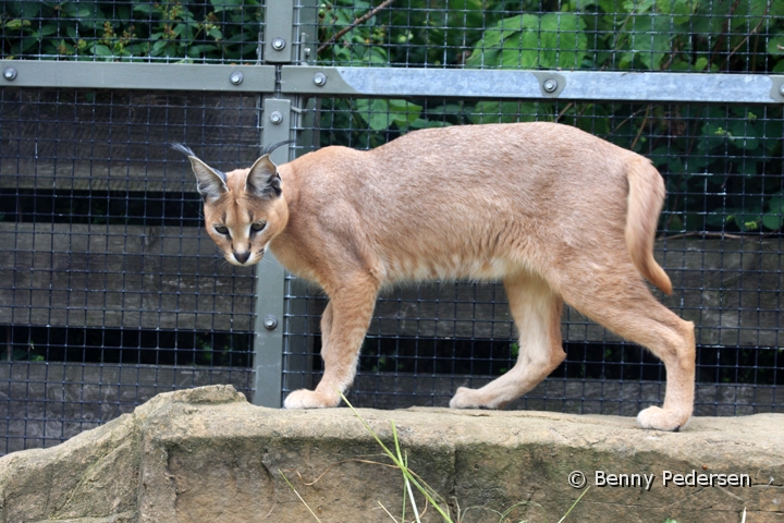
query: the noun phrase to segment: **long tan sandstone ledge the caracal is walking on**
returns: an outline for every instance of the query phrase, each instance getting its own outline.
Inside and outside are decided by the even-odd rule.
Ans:
[[[558,521],[607,474],[651,488],[591,486],[566,521],[784,521],[784,415],[695,418],[682,433],[634,418],[448,409],[360,410],[462,521]],[[348,409],[256,408],[230,386],[160,394],[132,415],[0,459],[0,522],[327,522],[400,518],[400,471]],[[750,486],[663,485],[663,473],[748,474]],[[286,484],[283,474],[297,494]],[[425,507],[420,496],[419,508]],[[412,520],[411,509],[406,512]],[[422,521],[442,521],[429,508]]]

